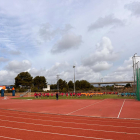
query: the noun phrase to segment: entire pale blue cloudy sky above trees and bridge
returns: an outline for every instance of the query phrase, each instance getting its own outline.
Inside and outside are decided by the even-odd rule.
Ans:
[[[139,50],[140,0],[0,0],[0,85],[132,80]]]

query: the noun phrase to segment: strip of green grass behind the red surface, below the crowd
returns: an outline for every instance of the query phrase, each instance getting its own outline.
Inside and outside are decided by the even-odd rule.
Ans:
[[[135,99],[135,96],[118,96],[118,95],[102,95],[102,96],[92,96],[92,97],[86,97],[86,96],[81,96],[81,97],[66,97],[66,96],[59,96],[59,99],[86,99],[86,100],[103,100],[103,99]],[[33,100],[50,100],[50,99],[56,99],[55,96],[53,97],[41,97],[41,98],[34,98],[34,97],[19,97],[19,98],[12,98],[12,99],[33,99]]]

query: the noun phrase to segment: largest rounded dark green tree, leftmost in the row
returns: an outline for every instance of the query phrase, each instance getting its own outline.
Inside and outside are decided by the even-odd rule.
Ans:
[[[15,87],[22,86],[24,88],[31,87],[33,83],[33,77],[28,72],[21,72],[15,77]]]

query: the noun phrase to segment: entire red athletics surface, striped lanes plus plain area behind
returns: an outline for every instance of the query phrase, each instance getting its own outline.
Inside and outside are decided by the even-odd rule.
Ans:
[[[0,98],[0,108],[0,140],[140,139],[140,102],[135,100]]]

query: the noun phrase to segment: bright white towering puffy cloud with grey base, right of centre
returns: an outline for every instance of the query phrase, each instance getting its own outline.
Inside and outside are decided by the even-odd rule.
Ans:
[[[119,54],[114,52],[111,40],[107,37],[103,37],[101,43],[97,44],[95,52],[82,60],[84,66],[90,66],[95,71],[102,71],[109,69],[112,64],[107,61],[115,61],[119,57]]]

